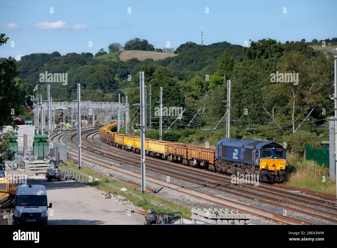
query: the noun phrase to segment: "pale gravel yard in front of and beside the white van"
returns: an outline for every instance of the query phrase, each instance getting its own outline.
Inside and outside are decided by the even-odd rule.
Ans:
[[[103,199],[101,190],[75,181],[46,182],[44,178],[30,178],[27,184],[44,185],[48,203],[49,225],[143,225],[144,216],[138,213],[127,215],[125,206],[113,199]],[[130,208],[137,208],[129,205]]]

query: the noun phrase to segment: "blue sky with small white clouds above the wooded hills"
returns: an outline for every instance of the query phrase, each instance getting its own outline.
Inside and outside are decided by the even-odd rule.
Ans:
[[[0,57],[31,53],[95,53],[108,45],[144,38],[157,48],[274,38],[281,42],[337,36],[336,2],[319,1],[108,1],[2,0],[0,33],[9,42]],[[330,7],[329,7],[330,6]],[[50,13],[53,7],[54,13]],[[131,13],[128,14],[128,7]],[[283,8],[286,7],[286,14]],[[205,13],[209,8],[209,13]],[[14,41],[14,47],[11,47]],[[89,47],[92,41],[92,47]]]

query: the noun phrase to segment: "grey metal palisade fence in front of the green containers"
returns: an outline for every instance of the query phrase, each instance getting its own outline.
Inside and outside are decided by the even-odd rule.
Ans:
[[[5,161],[14,161],[15,156],[31,157],[36,156],[38,160],[48,159],[48,157],[54,157],[56,160],[68,160],[68,146],[58,142],[50,142],[50,146],[11,146],[7,150],[0,153]],[[15,152],[14,156],[10,158],[10,153]]]

